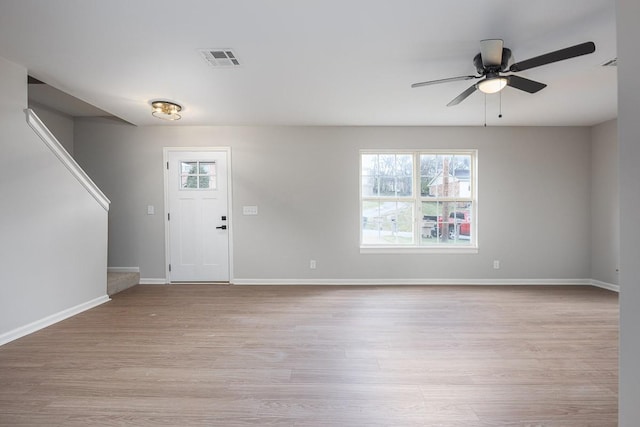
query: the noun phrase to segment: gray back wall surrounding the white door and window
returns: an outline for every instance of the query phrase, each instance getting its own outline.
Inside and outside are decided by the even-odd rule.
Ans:
[[[232,147],[235,279],[590,275],[588,128],[133,127],[77,119],[74,141],[77,161],[112,201],[109,265],[140,267],[143,278],[165,276],[162,148],[215,145]],[[479,150],[479,253],[360,254],[358,150],[443,147]],[[146,214],[149,204],[156,215]],[[242,216],[243,205],[257,205],[259,215]]]

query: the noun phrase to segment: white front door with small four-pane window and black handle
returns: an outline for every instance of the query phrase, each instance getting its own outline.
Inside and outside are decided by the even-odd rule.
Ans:
[[[228,150],[165,150],[171,282],[229,281]]]

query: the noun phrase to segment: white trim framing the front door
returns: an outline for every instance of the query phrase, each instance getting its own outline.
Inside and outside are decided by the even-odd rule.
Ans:
[[[171,235],[169,232],[169,171],[166,167],[169,161],[169,153],[175,152],[223,152],[227,156],[227,230],[229,230],[229,283],[233,284],[233,182],[231,177],[231,147],[163,147],[162,148],[162,170],[164,174],[164,260],[165,260],[165,283],[171,283]]]

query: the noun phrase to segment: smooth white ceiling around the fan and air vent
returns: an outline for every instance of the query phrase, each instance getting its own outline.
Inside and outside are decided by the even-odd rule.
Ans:
[[[593,125],[617,116],[614,0],[0,0],[0,56],[136,125],[482,125],[479,41],[516,61],[585,41],[596,52],[523,71],[548,85],[486,97],[489,125]],[[238,68],[199,49],[231,48]],[[502,103],[503,118],[498,119]]]

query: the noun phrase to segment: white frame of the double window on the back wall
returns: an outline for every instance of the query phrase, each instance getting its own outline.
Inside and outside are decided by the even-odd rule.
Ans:
[[[389,197],[387,200],[407,200],[411,201],[414,205],[414,244],[412,245],[392,245],[392,244],[363,244],[362,243],[362,218],[363,218],[363,202],[367,199],[380,200],[380,197],[363,197],[362,194],[362,156],[367,154],[411,154],[413,156],[413,195],[410,199],[407,197],[394,198]],[[421,177],[420,177],[420,156],[421,155],[468,155],[471,156],[471,195],[468,198],[464,198],[471,202],[471,238],[468,245],[459,244],[437,244],[422,246],[421,245],[421,232],[422,232],[422,202],[435,202],[438,199],[433,197],[422,197],[420,194]],[[358,193],[359,193],[359,245],[360,253],[449,253],[449,254],[474,254],[478,253],[478,150],[476,149],[362,149],[358,154]],[[385,198],[386,199],[386,198]],[[458,198],[460,199],[460,198]]]

